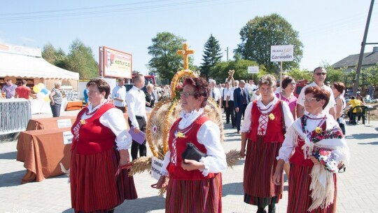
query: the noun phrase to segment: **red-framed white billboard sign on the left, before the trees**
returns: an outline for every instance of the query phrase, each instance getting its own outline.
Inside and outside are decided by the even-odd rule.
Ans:
[[[102,62],[102,70],[104,71],[104,76],[115,77],[115,78],[132,78],[132,55],[130,53],[124,53],[118,50],[113,50],[111,48],[100,48],[102,49],[103,57],[100,62]]]

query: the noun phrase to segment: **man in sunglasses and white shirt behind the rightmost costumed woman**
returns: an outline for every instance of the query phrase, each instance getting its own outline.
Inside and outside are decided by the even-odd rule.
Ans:
[[[314,69],[314,82],[310,83],[309,85],[306,85],[302,90],[300,91],[300,95],[297,100],[297,118],[302,117],[304,114],[304,91],[306,88],[309,88],[310,86],[317,86],[320,88],[323,88],[330,92],[330,102],[328,102],[327,106],[323,109],[324,112],[329,113],[333,118],[336,119],[335,114],[335,97],[333,97],[332,89],[324,84],[325,78],[327,78],[327,70],[323,67],[316,67]]]

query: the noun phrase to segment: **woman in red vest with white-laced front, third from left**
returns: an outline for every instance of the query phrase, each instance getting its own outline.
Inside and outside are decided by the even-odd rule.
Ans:
[[[288,104],[274,95],[276,78],[265,75],[258,81],[261,98],[248,104],[241,125],[241,158],[244,165],[244,202],[257,205],[257,212],[276,212],[275,204],[282,197],[283,186],[272,181],[276,156],[286,128],[293,123]],[[246,141],[248,146],[246,149]],[[282,182],[281,172],[279,181]]]

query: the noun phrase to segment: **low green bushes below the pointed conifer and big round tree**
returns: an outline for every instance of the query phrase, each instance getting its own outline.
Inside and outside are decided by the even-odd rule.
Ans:
[[[248,74],[248,67],[258,66],[256,62],[250,60],[230,60],[228,62],[219,62],[215,67],[210,69],[211,78],[216,79],[219,82],[225,82],[225,79],[228,78],[228,71],[231,69],[235,70],[234,79],[235,80],[248,80],[253,78],[256,82],[260,76],[267,74],[265,67],[262,65],[259,68],[257,75]],[[202,75],[202,74],[201,74]]]

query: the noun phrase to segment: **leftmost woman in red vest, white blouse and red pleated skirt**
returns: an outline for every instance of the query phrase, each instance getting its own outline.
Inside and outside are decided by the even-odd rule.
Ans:
[[[71,204],[75,212],[113,212],[125,199],[136,199],[134,179],[118,167],[130,161],[132,137],[123,113],[107,101],[110,86],[102,78],[87,83],[90,105],[71,132]]]

